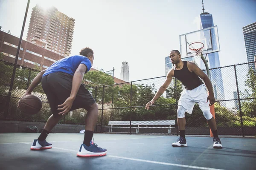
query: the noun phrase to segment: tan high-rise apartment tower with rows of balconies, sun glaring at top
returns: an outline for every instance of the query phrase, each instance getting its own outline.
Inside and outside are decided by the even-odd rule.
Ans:
[[[75,19],[51,7],[36,5],[32,9],[27,41],[47,50],[69,56],[73,40]]]

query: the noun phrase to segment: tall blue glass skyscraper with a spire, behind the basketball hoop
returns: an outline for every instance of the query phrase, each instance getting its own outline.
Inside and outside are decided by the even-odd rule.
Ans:
[[[204,10],[204,3],[203,3],[203,10]],[[204,29],[212,26],[214,26],[212,14],[209,14],[208,12],[201,13],[200,29]],[[214,34],[215,34],[215,31],[212,30],[212,35]],[[210,35],[205,34],[204,36],[210,36]],[[216,39],[212,38],[212,46],[214,45],[217,45]],[[209,68],[218,68],[221,66],[218,52],[207,54],[207,57],[209,61],[208,62]],[[200,68],[203,70],[206,69],[203,60],[201,60]],[[212,69],[210,73],[211,73],[211,82],[213,86],[215,99],[216,100],[225,99],[221,69],[220,68]],[[225,105],[225,104],[222,104],[222,105]]]

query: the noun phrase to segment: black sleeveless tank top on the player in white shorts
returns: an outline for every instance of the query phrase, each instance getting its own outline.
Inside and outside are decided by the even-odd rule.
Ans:
[[[197,88],[199,85],[204,84],[195,73],[189,71],[187,61],[183,61],[183,68],[181,70],[176,70],[176,66],[174,67],[174,77],[180,80],[188,90],[192,90]]]

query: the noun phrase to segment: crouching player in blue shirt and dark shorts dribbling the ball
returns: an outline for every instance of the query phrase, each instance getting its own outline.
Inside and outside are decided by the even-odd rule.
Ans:
[[[87,110],[84,142],[77,156],[106,155],[107,150],[98,147],[92,141],[93,130],[98,120],[98,105],[90,92],[81,84],[84,74],[93,65],[93,50],[83,48],[79,54],[60,59],[46,70],[41,71],[24,94],[24,96],[31,94],[41,82],[52,111],[40,136],[34,140],[31,150],[52,148],[52,144],[45,140],[52,128],[69,111],[84,108]]]

